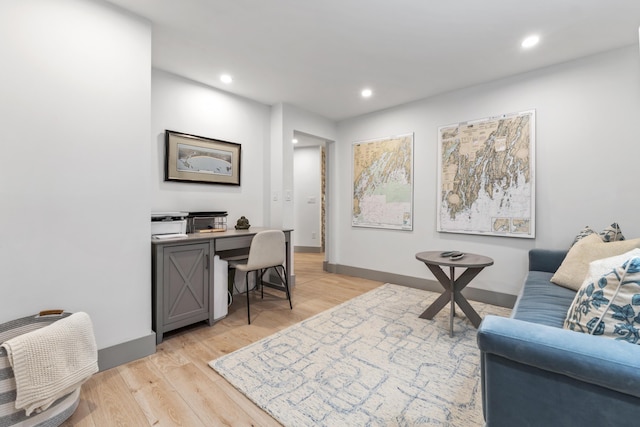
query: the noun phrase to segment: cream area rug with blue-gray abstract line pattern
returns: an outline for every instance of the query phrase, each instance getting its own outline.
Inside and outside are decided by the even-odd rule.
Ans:
[[[386,284],[209,365],[285,426],[481,426],[476,329],[418,318],[438,295]]]

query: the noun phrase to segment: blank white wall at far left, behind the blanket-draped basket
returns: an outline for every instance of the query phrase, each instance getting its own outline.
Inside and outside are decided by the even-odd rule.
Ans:
[[[0,322],[151,333],[151,27],[91,0],[0,2]]]

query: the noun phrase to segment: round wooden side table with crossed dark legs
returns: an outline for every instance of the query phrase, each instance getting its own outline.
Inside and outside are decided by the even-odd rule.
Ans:
[[[447,303],[451,303],[451,311],[449,312],[449,336],[453,336],[453,316],[455,315],[455,307],[458,307],[467,315],[467,318],[476,328],[480,326],[482,318],[471,307],[469,301],[460,293],[465,286],[473,280],[485,267],[493,265],[493,260],[489,257],[476,254],[465,254],[464,257],[457,261],[440,256],[442,252],[419,252],[416,259],[425,263],[431,270],[438,282],[444,287],[444,292],[440,295],[425,311],[420,315],[421,319],[433,319]],[[449,276],[445,274],[442,266],[449,267]],[[455,277],[456,267],[466,268],[458,279]]]

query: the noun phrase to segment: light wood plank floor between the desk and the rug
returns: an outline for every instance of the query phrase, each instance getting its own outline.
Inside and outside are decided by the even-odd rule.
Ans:
[[[264,300],[252,294],[247,325],[241,295],[213,326],[170,332],[155,354],[94,375],[63,426],[278,426],[207,363],[382,285],[326,273],[323,259],[323,254],[294,255],[293,310],[283,293],[266,289]]]

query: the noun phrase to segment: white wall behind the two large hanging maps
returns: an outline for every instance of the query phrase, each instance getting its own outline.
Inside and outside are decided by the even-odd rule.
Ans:
[[[353,141],[415,132],[414,230],[352,228],[351,185],[339,186],[328,261],[433,279],[417,252],[480,253],[495,265],[470,286],[517,294],[530,248],[568,248],[585,225],[601,230],[613,221],[628,238],[640,237],[639,77],[633,46],[340,123],[335,179],[344,183]],[[536,110],[536,239],[436,232],[438,127],[527,109]]]

